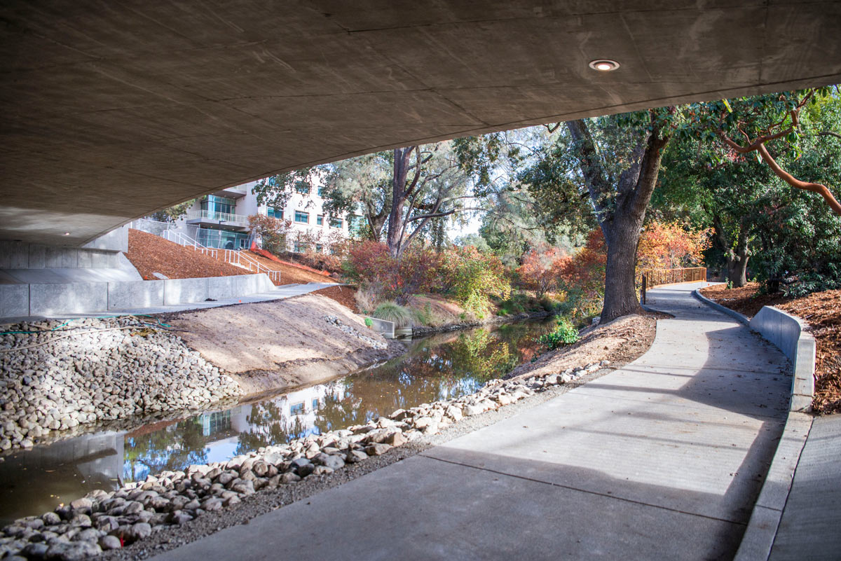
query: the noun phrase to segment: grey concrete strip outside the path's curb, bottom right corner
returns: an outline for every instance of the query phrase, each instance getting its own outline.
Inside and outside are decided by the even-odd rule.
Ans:
[[[841,559],[841,415],[817,417],[800,456],[770,561]]]

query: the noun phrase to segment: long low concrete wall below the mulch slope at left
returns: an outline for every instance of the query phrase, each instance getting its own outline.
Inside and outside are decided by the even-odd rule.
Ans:
[[[273,289],[272,281],[262,273],[166,281],[0,285],[0,320],[223,300]]]

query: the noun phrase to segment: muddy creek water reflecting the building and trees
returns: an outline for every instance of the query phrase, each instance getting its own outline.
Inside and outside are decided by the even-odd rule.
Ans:
[[[223,461],[395,409],[472,393],[531,360],[540,350],[535,339],[553,325],[518,322],[437,334],[412,341],[397,359],[327,384],[129,433],[92,433],[6,455],[0,464],[0,523],[164,469]]]

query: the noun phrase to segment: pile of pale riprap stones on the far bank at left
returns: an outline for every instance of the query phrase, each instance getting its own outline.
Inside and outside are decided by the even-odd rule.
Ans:
[[[29,448],[84,423],[241,395],[233,378],[177,334],[137,317],[18,323],[3,332],[0,450]]]

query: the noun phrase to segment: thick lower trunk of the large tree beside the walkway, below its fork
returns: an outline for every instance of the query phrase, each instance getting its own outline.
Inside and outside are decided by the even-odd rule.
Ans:
[[[643,308],[637,298],[637,245],[643,221],[621,220],[614,222],[607,242],[605,268],[605,305],[601,310],[601,323],[630,313],[641,313]]]

